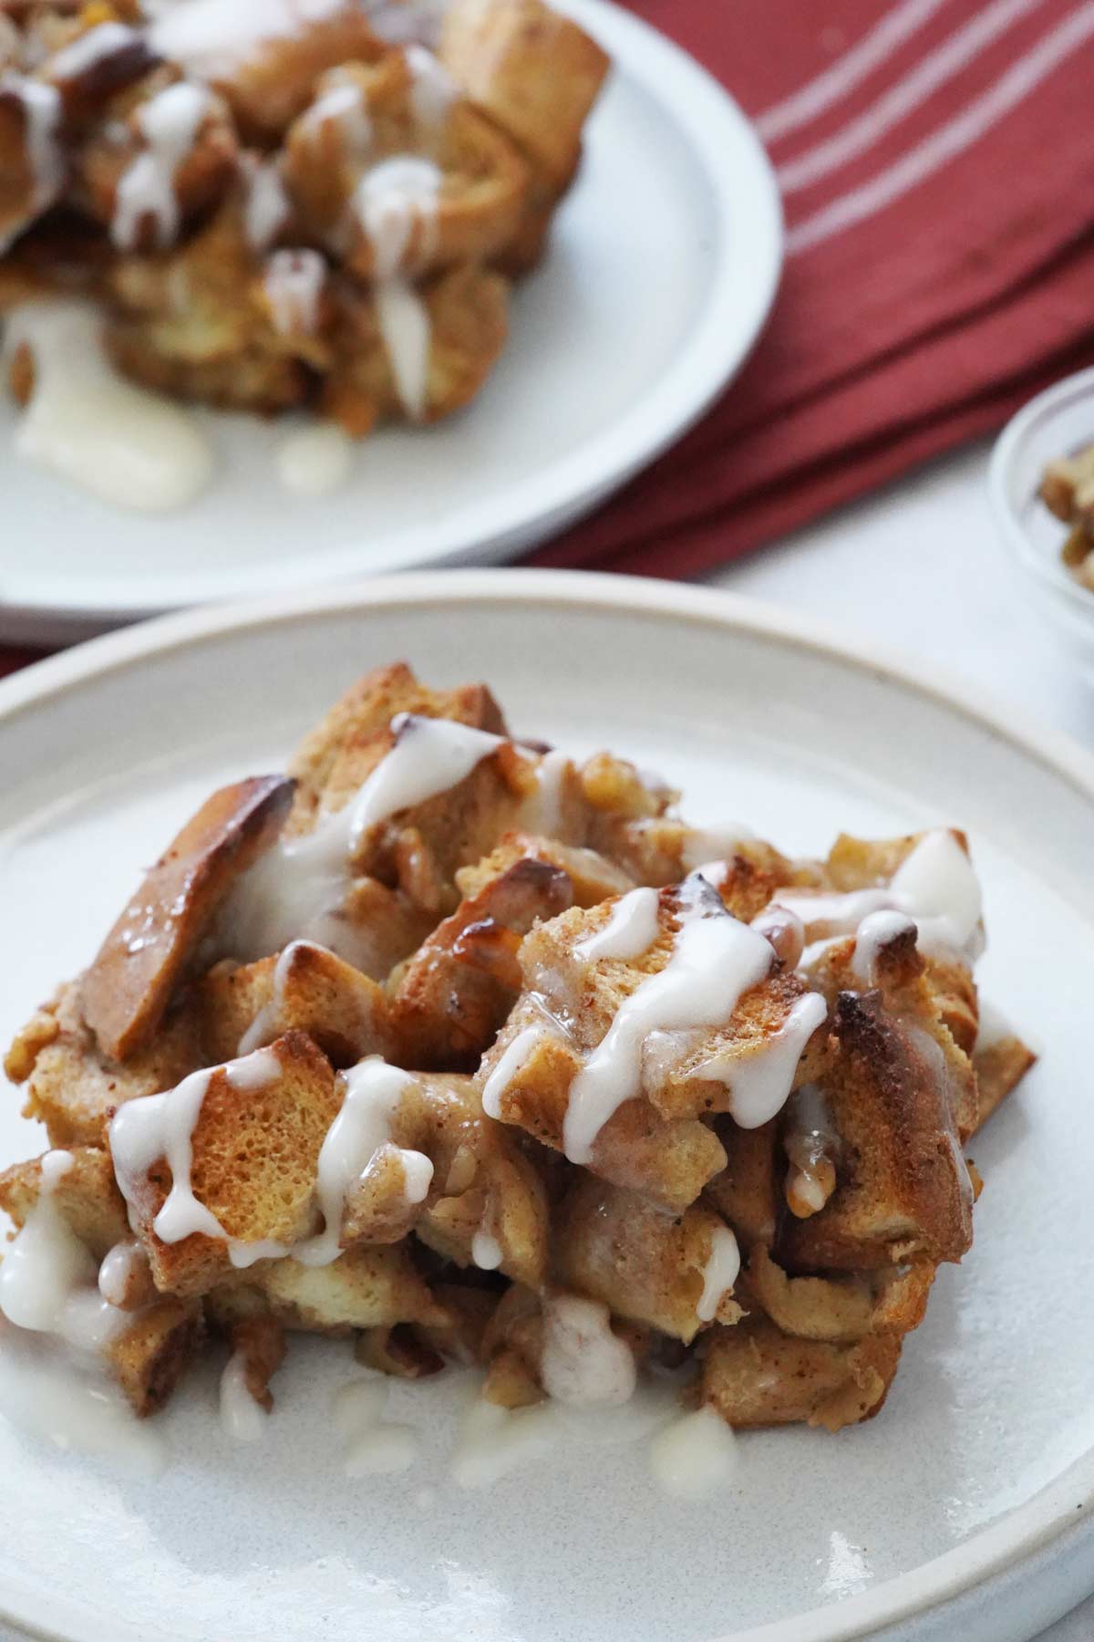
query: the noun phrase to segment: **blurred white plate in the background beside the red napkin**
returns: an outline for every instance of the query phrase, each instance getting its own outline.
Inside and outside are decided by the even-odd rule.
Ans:
[[[607,0],[572,15],[615,61],[541,269],[485,391],[364,442],[351,483],[282,491],[284,424],[208,414],[221,475],[177,514],[125,514],[11,452],[0,402],[0,635],[120,621],[333,576],[502,560],[587,512],[710,404],[751,348],[782,248],[771,167],[736,103]]]

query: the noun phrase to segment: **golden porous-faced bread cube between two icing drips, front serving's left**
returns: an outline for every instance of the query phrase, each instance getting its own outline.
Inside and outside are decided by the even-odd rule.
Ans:
[[[239,1243],[292,1245],[315,1230],[318,1154],[341,1089],[326,1056],[303,1033],[285,1033],[262,1051],[280,1071],[262,1087],[243,1087],[230,1071],[208,1077],[192,1130],[190,1186]],[[164,1294],[203,1294],[230,1271],[228,1245],[192,1232],[164,1243],[154,1230],[172,1186],[166,1159],[133,1182],[136,1232]]]

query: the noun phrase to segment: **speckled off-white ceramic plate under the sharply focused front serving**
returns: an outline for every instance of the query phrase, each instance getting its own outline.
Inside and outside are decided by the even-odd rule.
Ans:
[[[82,965],[210,785],[277,767],[394,657],[485,677],[513,726],[625,750],[695,819],[789,851],[968,828],[984,990],[1043,1049],[976,1141],[976,1248],[935,1284],[879,1419],[748,1433],[715,1504],[661,1496],[643,1443],[561,1442],[461,1493],[444,1383],[395,1387],[428,1456],[348,1481],[330,1397],[353,1365],[330,1342],[294,1343],[258,1450],[225,1448],[200,1374],[154,1484],[0,1422],[0,1612],[79,1642],[1025,1642],[1094,1586],[1094,764],[1071,744],[795,617],[658,583],[436,573],[171,617],[0,686],[0,1034]],[[41,1144],[16,1105],[3,1161]]]

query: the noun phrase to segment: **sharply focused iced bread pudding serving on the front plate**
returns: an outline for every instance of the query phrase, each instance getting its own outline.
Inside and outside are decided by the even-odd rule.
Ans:
[[[789,859],[676,801],[403,665],[213,793],[8,1053],[49,1141],[0,1176],[8,1323],[138,1415],[205,1351],[269,1409],[300,1330],[507,1410],[877,1414],[1032,1062],[968,844]]]

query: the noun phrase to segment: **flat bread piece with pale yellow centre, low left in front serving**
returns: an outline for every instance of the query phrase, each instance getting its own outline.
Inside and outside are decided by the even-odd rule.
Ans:
[[[330,1266],[272,1259],[218,1284],[207,1305],[220,1327],[269,1315],[284,1328],[328,1335],[392,1323],[443,1327],[448,1320],[405,1245],[351,1248]]]

